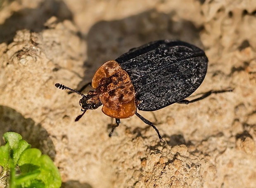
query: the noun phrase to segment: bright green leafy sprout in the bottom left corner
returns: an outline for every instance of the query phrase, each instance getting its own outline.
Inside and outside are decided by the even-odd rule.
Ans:
[[[22,139],[15,132],[3,135],[5,146],[0,146],[0,188],[59,188],[61,177],[48,155]]]

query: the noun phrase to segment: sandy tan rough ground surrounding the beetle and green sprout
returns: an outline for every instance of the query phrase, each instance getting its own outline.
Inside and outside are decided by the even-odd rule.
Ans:
[[[80,96],[56,82],[79,89],[105,61],[159,39],[205,49],[195,94],[234,91],[141,112],[167,144],[135,116],[112,138],[100,108],[74,122]],[[5,1],[0,67],[0,136],[18,132],[50,155],[63,188],[256,186],[255,0]]]

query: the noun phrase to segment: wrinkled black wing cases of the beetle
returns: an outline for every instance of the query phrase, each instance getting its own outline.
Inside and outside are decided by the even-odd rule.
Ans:
[[[190,96],[204,80],[208,59],[194,45],[159,40],[130,49],[116,61],[130,76],[137,108],[154,111]]]

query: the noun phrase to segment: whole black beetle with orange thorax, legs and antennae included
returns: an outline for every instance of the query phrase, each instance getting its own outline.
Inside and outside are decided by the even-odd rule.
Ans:
[[[209,91],[192,101],[185,100],[203,82],[208,59],[204,51],[187,42],[178,40],[158,40],[130,49],[116,60],[104,63],[96,71],[87,95],[65,85],[56,83],[59,89],[69,89],[82,96],[79,104],[83,113],[100,106],[102,112],[116,119],[109,134],[120,124],[120,119],[136,115],[153,127],[163,140],[153,122],[142,117],[138,110],[154,111],[173,103],[192,103],[228,90]]]

